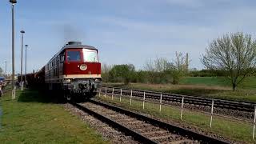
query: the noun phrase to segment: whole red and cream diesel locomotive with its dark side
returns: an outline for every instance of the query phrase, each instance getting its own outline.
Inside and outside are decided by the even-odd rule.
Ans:
[[[102,86],[98,50],[82,42],[68,42],[44,66],[49,90],[62,90],[64,98],[91,98]]]

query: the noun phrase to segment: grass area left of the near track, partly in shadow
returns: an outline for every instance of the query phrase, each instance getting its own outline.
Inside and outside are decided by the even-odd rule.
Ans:
[[[64,106],[37,91],[10,93],[0,98],[0,143],[106,143],[102,136]]]

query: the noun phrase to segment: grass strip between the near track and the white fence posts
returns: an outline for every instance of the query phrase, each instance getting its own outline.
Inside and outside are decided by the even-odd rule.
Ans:
[[[142,110],[142,102],[132,100],[132,105],[130,106],[130,98],[122,98],[122,102],[119,102],[119,98],[117,97],[111,100],[110,96],[106,98],[100,97],[99,99],[114,103],[114,105],[122,106],[126,109],[150,114],[156,118],[162,118],[180,126],[202,130],[207,134],[218,134],[238,143],[256,142],[252,139],[253,125],[246,122],[236,122],[226,118],[214,117],[212,128],[210,128],[210,115],[199,112],[184,110],[182,120],[180,120],[180,108],[162,106],[162,112],[160,113],[159,105],[151,102],[146,102],[145,110]]]

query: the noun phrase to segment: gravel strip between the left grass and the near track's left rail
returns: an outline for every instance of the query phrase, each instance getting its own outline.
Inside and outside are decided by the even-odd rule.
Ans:
[[[122,132],[115,130],[114,128],[108,126],[106,123],[94,118],[90,114],[86,114],[82,110],[70,105],[64,104],[66,110],[68,110],[71,114],[78,116],[78,118],[82,119],[83,122],[86,122],[91,127],[93,127],[98,134],[102,134],[102,137],[105,140],[110,141],[110,143],[129,143],[129,144],[137,144],[139,142],[134,141],[130,136],[126,136],[122,134]]]

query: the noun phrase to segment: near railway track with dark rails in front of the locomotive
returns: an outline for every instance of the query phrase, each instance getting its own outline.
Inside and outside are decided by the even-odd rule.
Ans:
[[[90,100],[72,104],[142,143],[229,143],[105,102]]]

